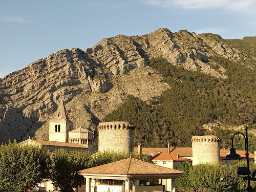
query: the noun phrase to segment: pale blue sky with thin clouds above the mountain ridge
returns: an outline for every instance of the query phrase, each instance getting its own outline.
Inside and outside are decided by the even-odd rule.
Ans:
[[[102,38],[171,32],[256,36],[256,0],[0,0],[0,78]]]

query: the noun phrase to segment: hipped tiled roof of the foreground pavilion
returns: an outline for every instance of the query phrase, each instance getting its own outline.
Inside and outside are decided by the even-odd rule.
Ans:
[[[180,170],[158,166],[131,157],[79,171],[79,174],[98,175],[182,175],[183,173]]]

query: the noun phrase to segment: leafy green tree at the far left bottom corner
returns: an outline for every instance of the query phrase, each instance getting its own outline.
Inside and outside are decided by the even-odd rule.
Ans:
[[[49,177],[48,151],[13,143],[0,146],[0,189],[6,192],[27,191]]]

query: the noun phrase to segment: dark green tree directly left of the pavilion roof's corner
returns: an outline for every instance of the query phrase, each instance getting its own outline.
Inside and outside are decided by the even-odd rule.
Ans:
[[[72,192],[77,185],[84,184],[83,176],[78,170],[92,167],[90,152],[56,150],[51,156],[51,182],[63,192]]]

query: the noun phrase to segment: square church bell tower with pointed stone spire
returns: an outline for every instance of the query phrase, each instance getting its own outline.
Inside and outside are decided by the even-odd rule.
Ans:
[[[49,141],[68,142],[68,132],[73,130],[73,122],[69,120],[63,101],[59,103],[55,118],[49,124]]]

